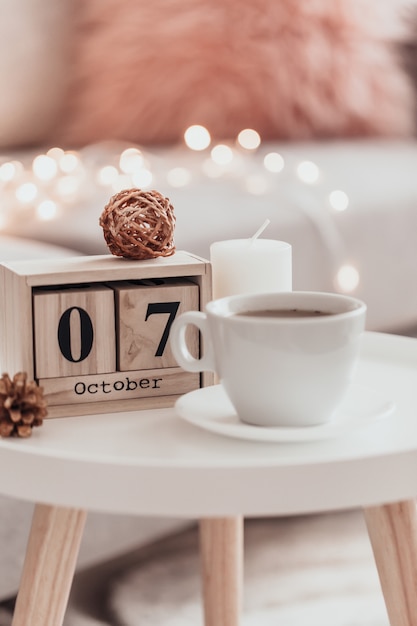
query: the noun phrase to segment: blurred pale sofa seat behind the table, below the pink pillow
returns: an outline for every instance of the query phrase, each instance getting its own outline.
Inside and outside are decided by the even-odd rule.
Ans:
[[[111,195],[130,186],[155,188],[174,205],[177,249],[208,258],[210,243],[250,237],[268,218],[262,236],[293,247],[294,289],[357,295],[368,304],[374,330],[401,330],[417,321],[412,137],[261,142],[254,150],[212,142],[202,151],[184,143],[101,142],[58,152],[54,158],[67,154],[75,165],[71,175],[58,170],[53,180],[33,173],[34,160],[45,152],[7,155],[21,169],[2,194],[4,234],[106,254],[98,222]],[[19,196],[27,182],[37,188],[30,201]],[[53,212],[43,215],[39,208],[48,202]]]

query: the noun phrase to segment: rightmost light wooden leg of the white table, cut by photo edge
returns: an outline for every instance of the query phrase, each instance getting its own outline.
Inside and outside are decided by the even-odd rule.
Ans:
[[[414,500],[364,510],[391,626],[417,624],[417,508]]]

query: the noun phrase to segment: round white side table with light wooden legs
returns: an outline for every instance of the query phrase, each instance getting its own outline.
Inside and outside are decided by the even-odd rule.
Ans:
[[[355,383],[394,412],[323,441],[223,437],[175,409],[46,420],[1,440],[0,492],[37,503],[13,626],[62,623],[86,510],[198,518],[205,623],[234,626],[242,517],[350,507],[364,508],[391,625],[415,624],[417,340],[366,333]]]

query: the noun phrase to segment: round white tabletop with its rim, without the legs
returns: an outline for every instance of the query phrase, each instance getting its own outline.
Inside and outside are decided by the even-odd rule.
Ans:
[[[355,383],[396,403],[324,441],[206,432],[174,409],[45,420],[0,440],[0,492],[89,510],[179,517],[287,515],[417,496],[417,340],[366,333]]]

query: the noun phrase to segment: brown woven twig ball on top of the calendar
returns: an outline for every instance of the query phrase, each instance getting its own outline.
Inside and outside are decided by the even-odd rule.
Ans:
[[[175,252],[174,207],[158,191],[125,189],[112,196],[100,216],[110,252],[128,259],[153,259]]]

